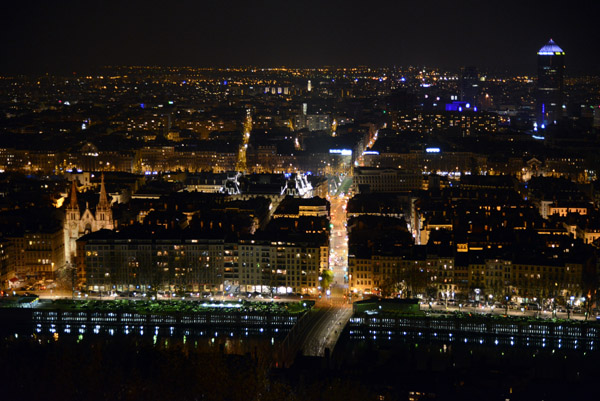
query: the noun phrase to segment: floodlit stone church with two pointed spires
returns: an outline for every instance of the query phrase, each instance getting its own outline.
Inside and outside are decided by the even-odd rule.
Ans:
[[[85,204],[85,210],[79,207],[77,201],[77,178],[71,185],[71,197],[69,205],[66,208],[65,215],[65,256],[68,262],[75,264],[75,253],[77,250],[76,241],[83,235],[98,231],[102,228],[112,230],[114,221],[112,209],[108,202],[106,188],[104,187],[104,174],[100,182],[100,199],[95,210],[92,211],[88,202]]]

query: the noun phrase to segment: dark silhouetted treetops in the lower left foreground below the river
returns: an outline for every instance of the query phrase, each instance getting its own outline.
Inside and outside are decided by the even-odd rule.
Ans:
[[[40,343],[41,342],[41,343]],[[9,339],[0,342],[5,399],[285,401],[375,399],[365,387],[274,378],[268,355],[231,355],[173,343],[122,338]],[[202,347],[201,347],[202,348]],[[264,351],[258,351],[263,353]]]

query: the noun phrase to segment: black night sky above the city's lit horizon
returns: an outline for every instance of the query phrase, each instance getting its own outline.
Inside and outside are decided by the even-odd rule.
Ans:
[[[534,72],[553,38],[600,73],[600,0],[2,2],[0,71],[428,65]]]

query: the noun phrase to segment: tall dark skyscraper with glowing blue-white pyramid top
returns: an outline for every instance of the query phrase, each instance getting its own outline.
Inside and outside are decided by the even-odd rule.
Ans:
[[[538,51],[536,123],[538,129],[556,124],[563,111],[565,52],[552,39]]]

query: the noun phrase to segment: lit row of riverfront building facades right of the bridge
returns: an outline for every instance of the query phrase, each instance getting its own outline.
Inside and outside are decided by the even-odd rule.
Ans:
[[[506,296],[523,299],[568,299],[583,296],[583,265],[540,260],[523,263],[508,259],[455,263],[454,257],[372,255],[348,259],[349,290],[377,294],[438,299],[461,298],[503,301]]]

